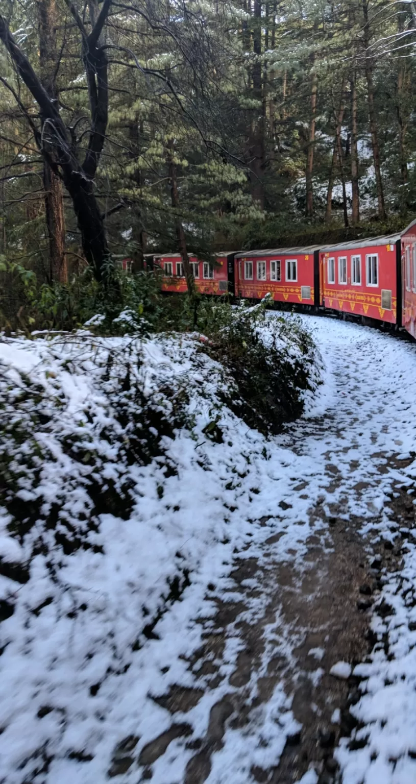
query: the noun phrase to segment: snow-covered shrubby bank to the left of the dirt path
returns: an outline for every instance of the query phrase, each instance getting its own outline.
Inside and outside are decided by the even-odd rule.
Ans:
[[[230,382],[197,339],[16,339],[0,359],[20,542],[4,511],[0,769],[8,782],[96,782],[114,744],[166,723],[150,684],[163,691],[166,662],[169,679],[183,674],[207,584],[253,528],[266,538],[255,521],[297,472],[219,403]],[[281,748],[289,707],[280,690]]]

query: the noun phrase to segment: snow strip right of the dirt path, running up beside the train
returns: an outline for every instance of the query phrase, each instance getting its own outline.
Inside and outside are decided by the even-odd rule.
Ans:
[[[312,325],[313,319],[308,323]],[[351,709],[359,721],[353,731],[354,750],[349,750],[349,739],[341,739],[335,756],[343,784],[410,784],[416,781],[414,512],[410,528],[403,528],[387,503],[392,485],[413,492],[416,478],[416,464],[412,463],[416,452],[416,347],[327,319],[317,323],[316,329],[318,346],[337,382],[338,399],[327,410],[328,423],[333,419],[345,447],[331,453],[331,437],[308,439],[301,422],[298,431],[306,435],[302,453],[314,455],[319,465],[322,452],[328,450],[327,460],[335,463],[341,482],[327,500],[343,505],[345,520],[354,515],[363,521],[361,532],[367,541],[374,546],[388,540],[394,543],[399,533],[406,539],[400,572],[389,574],[382,569],[384,586],[372,621],[378,642],[368,662],[353,670],[353,675],[362,679],[363,694]],[[396,468],[395,457],[409,459],[410,465],[405,470]],[[416,503],[413,498],[409,496],[411,506]],[[327,513],[331,514],[329,506]],[[335,670],[334,674],[345,677],[345,662],[338,662]]]

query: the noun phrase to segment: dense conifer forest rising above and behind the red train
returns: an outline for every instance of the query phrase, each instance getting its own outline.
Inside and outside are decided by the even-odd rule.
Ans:
[[[339,241],[413,217],[412,2],[0,9],[6,278],[51,287],[88,268],[105,283],[147,253]]]

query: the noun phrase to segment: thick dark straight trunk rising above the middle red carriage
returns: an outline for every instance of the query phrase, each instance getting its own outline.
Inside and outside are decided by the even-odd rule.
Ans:
[[[257,108],[251,112],[250,123],[250,170],[251,170],[251,198],[259,206],[264,207],[264,187],[262,175],[265,163],[265,143],[264,125],[266,110],[262,99],[262,2],[254,0],[253,13],[253,52],[255,54],[255,64],[252,67],[253,98],[257,103]]]

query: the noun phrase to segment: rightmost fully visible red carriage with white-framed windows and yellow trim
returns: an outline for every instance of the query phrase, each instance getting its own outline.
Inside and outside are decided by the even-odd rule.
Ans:
[[[400,323],[400,234],[338,243],[320,251],[320,304]]]

